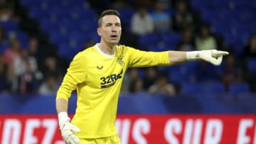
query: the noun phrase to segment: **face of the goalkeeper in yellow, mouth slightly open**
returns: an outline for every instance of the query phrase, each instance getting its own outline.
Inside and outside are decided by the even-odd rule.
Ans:
[[[97,33],[105,43],[116,45],[122,33],[120,19],[114,15],[103,16],[102,26],[97,28]]]

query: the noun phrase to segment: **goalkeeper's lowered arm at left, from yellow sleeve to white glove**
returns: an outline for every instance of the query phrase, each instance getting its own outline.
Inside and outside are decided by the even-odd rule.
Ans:
[[[68,99],[76,89],[76,85],[84,81],[85,68],[83,66],[85,63],[83,61],[80,57],[75,57],[70,63],[68,72],[65,74],[56,96],[55,106],[58,113],[60,133],[65,143],[78,144],[80,141],[74,135],[74,133],[80,132],[80,129],[70,123],[70,118],[68,117]]]

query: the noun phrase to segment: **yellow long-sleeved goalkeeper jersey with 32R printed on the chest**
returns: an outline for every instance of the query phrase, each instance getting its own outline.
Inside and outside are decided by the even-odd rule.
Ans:
[[[145,52],[117,45],[106,55],[95,45],[79,52],[70,62],[57,97],[68,98],[75,89],[77,109],[71,123],[80,128],[78,138],[102,138],[117,134],[114,121],[117,101],[128,67],[170,65],[169,52]]]

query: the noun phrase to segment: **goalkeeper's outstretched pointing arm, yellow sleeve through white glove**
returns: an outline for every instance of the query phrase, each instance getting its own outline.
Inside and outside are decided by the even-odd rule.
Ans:
[[[175,65],[192,60],[205,60],[213,65],[220,65],[223,55],[228,55],[228,52],[220,50],[145,52],[127,48],[126,52],[129,57],[129,67]]]

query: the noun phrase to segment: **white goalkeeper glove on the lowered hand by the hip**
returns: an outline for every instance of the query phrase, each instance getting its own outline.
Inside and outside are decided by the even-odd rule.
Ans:
[[[58,113],[58,120],[60,126],[60,133],[65,143],[78,144],[80,140],[73,134],[73,132],[78,133],[80,132],[80,129],[77,126],[70,123],[68,113],[65,111]]]

